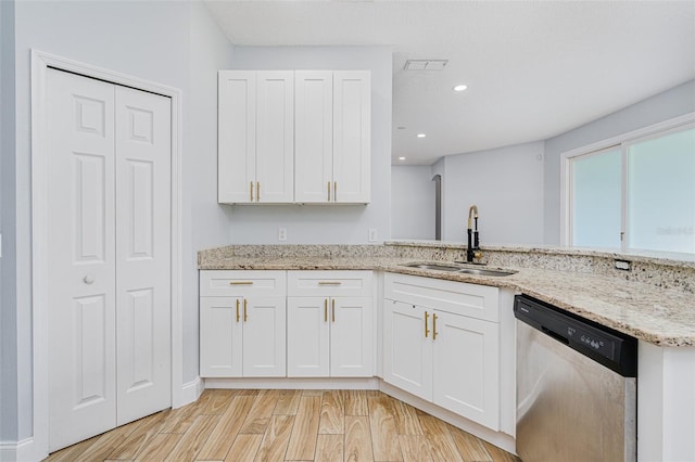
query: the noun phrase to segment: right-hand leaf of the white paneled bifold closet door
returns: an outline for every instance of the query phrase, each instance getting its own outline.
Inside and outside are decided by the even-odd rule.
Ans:
[[[170,405],[170,100],[116,87],[118,425]]]

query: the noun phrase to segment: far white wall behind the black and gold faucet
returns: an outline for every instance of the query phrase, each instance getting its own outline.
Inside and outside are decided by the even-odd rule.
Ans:
[[[476,204],[481,246],[543,243],[543,149],[538,141],[447,156],[442,240],[466,242]]]

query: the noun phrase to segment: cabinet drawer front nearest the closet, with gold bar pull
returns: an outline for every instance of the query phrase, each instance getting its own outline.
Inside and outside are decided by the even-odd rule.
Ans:
[[[200,272],[201,297],[285,296],[285,271],[203,270]]]

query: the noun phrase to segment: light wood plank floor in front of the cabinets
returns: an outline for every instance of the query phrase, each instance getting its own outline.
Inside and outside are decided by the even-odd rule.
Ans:
[[[380,392],[227,389],[47,459],[119,460],[519,462]]]

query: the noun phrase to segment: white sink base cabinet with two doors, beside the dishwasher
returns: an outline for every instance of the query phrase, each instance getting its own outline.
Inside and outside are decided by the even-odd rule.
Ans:
[[[496,287],[384,277],[383,380],[500,429]]]

